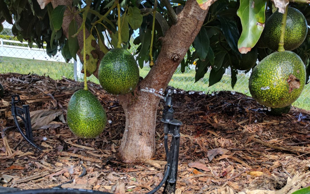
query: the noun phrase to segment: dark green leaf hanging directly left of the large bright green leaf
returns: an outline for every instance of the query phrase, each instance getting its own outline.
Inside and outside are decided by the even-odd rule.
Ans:
[[[228,45],[232,48],[233,51],[239,53],[237,43],[240,35],[236,22],[232,20],[226,20],[221,16],[218,16],[218,18],[222,25],[222,31]]]

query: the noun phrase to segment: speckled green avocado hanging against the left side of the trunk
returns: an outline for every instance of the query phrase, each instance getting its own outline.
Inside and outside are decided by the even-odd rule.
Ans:
[[[102,88],[111,94],[132,92],[139,82],[138,64],[127,50],[112,49],[100,62],[98,78]]]

